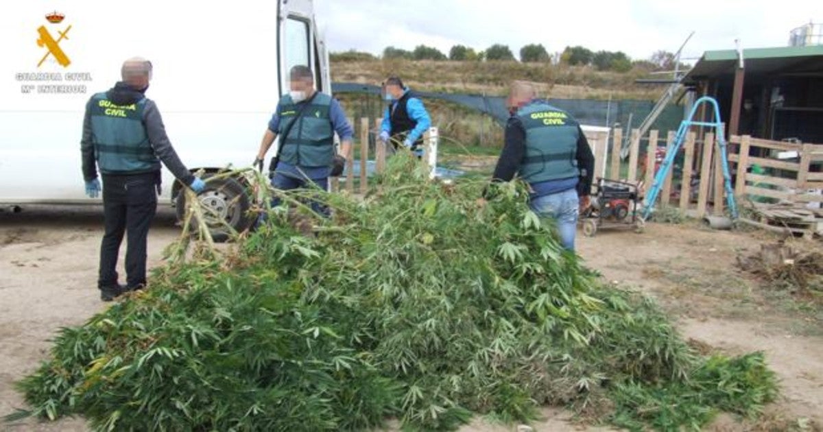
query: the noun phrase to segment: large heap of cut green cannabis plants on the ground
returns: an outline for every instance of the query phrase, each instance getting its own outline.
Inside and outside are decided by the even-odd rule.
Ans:
[[[63,329],[19,384],[30,411],[17,416],[81,415],[100,430],[388,418],[449,430],[480,413],[528,422],[552,404],[677,430],[718,411],[756,416],[775,396],[762,355],[696,355],[652,301],[602,286],[522,186],[477,202],[486,182],[431,182],[407,156],[378,183],[360,200],[277,193],[285,206],[235,250],[170,264],[146,292]]]

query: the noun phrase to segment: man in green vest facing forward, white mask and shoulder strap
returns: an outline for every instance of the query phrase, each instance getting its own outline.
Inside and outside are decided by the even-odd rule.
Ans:
[[[291,68],[288,95],[283,95],[263,134],[254,165],[263,169],[263,159],[276,137],[280,137],[272,186],[281,190],[316,186],[328,190],[332,165],[342,170],[346,157],[351,154],[351,128],[340,103],[330,95],[314,90],[314,73],[309,67]],[[335,158],[334,133],[340,137],[340,156]],[[340,172],[334,173],[339,175]],[[277,201],[273,202],[277,205]],[[328,209],[319,202],[311,207],[319,214],[328,215]]]

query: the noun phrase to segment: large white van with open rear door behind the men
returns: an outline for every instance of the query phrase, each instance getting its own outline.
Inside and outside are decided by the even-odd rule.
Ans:
[[[0,205],[100,204],[81,174],[84,109],[133,56],[153,64],[146,96],[189,170],[250,166],[291,67],[312,67],[330,93],[313,10],[311,0],[3,2]],[[249,198],[235,181],[201,198],[243,229]],[[164,168],[160,203],[173,205],[179,188]]]

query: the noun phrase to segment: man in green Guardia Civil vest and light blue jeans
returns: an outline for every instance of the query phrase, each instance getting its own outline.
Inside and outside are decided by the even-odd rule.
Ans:
[[[588,207],[594,156],[579,123],[563,110],[535,99],[534,87],[523,81],[511,86],[505,143],[493,181],[517,174],[531,188],[529,206],[556,221],[560,243],[574,250],[581,208]]]

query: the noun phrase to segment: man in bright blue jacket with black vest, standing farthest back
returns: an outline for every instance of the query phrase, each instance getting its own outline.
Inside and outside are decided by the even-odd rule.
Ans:
[[[423,134],[431,126],[423,101],[403,86],[398,77],[389,77],[384,82],[384,89],[388,106],[380,125],[380,141],[391,141],[393,150],[402,145],[422,156]]]

